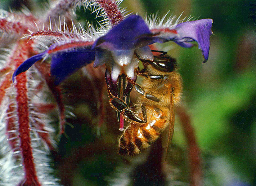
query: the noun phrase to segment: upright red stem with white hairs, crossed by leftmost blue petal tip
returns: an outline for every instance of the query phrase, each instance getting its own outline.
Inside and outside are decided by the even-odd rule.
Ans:
[[[20,64],[26,60],[29,56],[29,50],[27,47],[31,46],[31,42],[21,41],[17,49],[15,58],[15,66],[18,68]],[[41,185],[36,175],[35,165],[33,161],[33,153],[31,147],[30,131],[29,126],[29,98],[27,89],[27,77],[26,73],[21,73],[16,77],[15,87],[17,89],[17,113],[19,123],[19,138],[20,138],[20,152],[22,155],[25,178],[20,182],[20,186],[39,186]]]

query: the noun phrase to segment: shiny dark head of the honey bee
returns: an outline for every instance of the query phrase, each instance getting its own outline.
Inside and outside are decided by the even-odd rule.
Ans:
[[[176,59],[171,56],[154,56],[154,61],[148,61],[153,68],[160,72],[173,72],[177,69]]]

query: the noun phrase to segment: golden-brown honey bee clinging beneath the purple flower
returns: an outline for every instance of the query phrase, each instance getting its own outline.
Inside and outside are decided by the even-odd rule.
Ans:
[[[144,69],[138,68],[137,75],[142,76],[141,86],[130,83],[139,94],[135,109],[110,93],[110,104],[122,114],[130,125],[119,139],[121,155],[135,155],[150,146],[169,125],[167,142],[174,131],[174,104],[180,101],[182,79],[177,72],[176,60],[170,56],[154,56],[154,61],[141,59]]]

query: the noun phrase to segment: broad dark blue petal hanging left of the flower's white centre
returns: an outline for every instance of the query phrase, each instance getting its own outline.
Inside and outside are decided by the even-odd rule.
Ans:
[[[91,63],[95,58],[95,51],[89,48],[80,48],[73,51],[58,52],[52,55],[51,74],[58,85],[71,73],[84,65]]]

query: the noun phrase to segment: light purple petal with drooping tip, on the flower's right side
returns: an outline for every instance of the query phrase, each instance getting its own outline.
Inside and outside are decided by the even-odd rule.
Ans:
[[[196,41],[198,48],[202,50],[204,56],[204,62],[208,60],[210,49],[210,36],[212,32],[212,19],[202,19],[196,21],[189,21],[177,24],[173,30],[176,30],[176,34],[173,32],[161,32],[158,36],[152,38],[155,42],[167,42],[174,41],[182,47],[192,47],[193,44],[188,43]],[[164,30],[164,29],[163,29]]]

